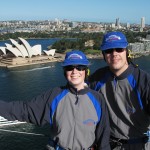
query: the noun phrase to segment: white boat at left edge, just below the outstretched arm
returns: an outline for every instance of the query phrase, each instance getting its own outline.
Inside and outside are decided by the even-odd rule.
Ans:
[[[21,123],[25,123],[25,122],[20,122],[18,120],[10,121],[10,120],[7,120],[6,118],[0,116],[0,127],[8,126],[8,125],[21,124]]]

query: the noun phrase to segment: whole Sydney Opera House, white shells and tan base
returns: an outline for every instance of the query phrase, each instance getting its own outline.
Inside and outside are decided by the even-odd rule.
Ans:
[[[5,47],[0,47],[1,66],[29,65],[55,59],[56,49],[42,50],[41,45],[31,46],[20,37],[18,41],[10,39],[10,43],[5,43]]]

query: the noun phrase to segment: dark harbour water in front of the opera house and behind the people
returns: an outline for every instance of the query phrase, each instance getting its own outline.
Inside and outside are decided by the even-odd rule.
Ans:
[[[91,59],[90,61],[91,73],[97,68],[106,65],[100,59]],[[134,63],[150,74],[150,56],[137,58]],[[0,99],[5,101],[28,101],[49,88],[64,85],[65,83],[66,80],[60,62],[50,62],[11,70],[0,69]],[[49,125],[37,127],[31,124],[20,124],[1,128],[46,136],[0,131],[0,150],[45,150],[50,134]]]

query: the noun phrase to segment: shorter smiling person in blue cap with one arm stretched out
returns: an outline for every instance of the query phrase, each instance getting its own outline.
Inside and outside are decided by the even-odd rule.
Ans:
[[[0,101],[0,115],[44,125],[53,132],[49,150],[110,150],[109,117],[104,98],[85,87],[89,61],[84,53],[66,53],[62,63],[65,86],[50,89],[28,102]]]

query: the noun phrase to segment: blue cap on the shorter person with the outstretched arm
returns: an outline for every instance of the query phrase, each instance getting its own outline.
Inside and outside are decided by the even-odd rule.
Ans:
[[[69,66],[69,65],[85,65],[88,66],[90,63],[86,57],[86,55],[79,51],[73,50],[66,53],[65,60],[62,62],[62,66]]]

